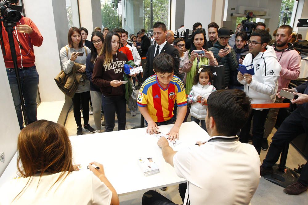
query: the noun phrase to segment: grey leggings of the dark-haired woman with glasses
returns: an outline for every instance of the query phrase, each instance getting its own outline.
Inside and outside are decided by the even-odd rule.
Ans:
[[[99,91],[90,91],[92,107],[93,107],[93,118],[95,123],[95,130],[100,130],[102,125],[100,124],[102,110],[102,93]]]

